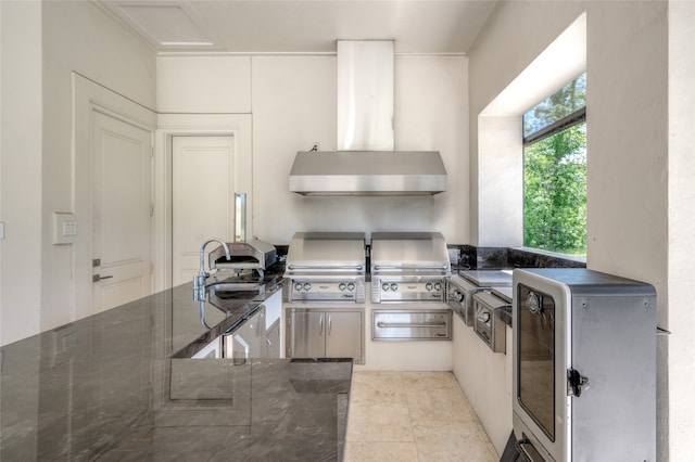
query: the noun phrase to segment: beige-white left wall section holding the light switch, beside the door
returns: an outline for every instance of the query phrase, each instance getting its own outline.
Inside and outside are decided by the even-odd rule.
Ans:
[[[142,106],[154,108],[154,53],[91,2],[42,2],[43,194],[41,331],[72,321],[76,299],[91,282],[88,210],[76,190],[80,171],[73,154],[71,75],[76,72]],[[79,111],[80,108],[76,108]],[[87,170],[88,171],[88,170]],[[77,214],[78,243],[53,245],[53,211]],[[84,274],[87,274],[85,277]],[[80,312],[80,315],[84,315]]]

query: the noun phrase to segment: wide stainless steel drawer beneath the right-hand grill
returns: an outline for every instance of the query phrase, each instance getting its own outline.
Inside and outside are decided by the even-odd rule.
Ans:
[[[375,310],[371,339],[374,341],[450,341],[452,311]]]

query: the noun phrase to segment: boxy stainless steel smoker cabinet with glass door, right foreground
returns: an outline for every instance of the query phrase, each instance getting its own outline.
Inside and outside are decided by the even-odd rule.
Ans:
[[[515,446],[531,461],[654,461],[655,288],[587,269],[513,280]]]

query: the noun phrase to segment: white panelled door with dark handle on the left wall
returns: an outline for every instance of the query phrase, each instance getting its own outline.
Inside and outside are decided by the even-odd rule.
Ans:
[[[152,133],[92,112],[92,310],[151,293]]]

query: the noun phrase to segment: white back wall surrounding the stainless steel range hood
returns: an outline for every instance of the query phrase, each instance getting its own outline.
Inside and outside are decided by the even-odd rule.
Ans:
[[[244,56],[197,60],[197,73],[181,73],[191,56],[159,59],[159,107],[169,112],[245,111]],[[236,61],[236,62],[235,62]],[[235,66],[240,68],[235,70]],[[213,88],[235,97],[219,105],[200,90],[195,75],[216,75]],[[468,242],[467,61],[464,56],[395,57],[395,145],[439,150],[448,172],[448,191],[433,197],[303,197],[289,192],[296,151],[336,149],[336,56],[251,56],[253,117],[253,229],[274,244],[289,243],[295,231],[437,230],[448,242]],[[186,76],[190,76],[186,78]],[[236,77],[235,77],[236,76]]]

